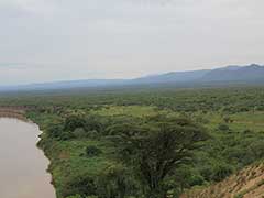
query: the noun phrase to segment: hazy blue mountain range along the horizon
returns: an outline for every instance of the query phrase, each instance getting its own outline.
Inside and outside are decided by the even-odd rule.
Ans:
[[[134,79],[84,79],[69,81],[55,81],[32,84],[23,86],[0,87],[0,91],[7,90],[55,90],[73,88],[98,88],[114,86],[139,86],[139,85],[230,85],[230,84],[263,84],[264,66],[251,64],[245,66],[227,66],[217,69],[172,72],[161,75],[145,76]]]

